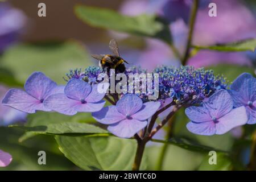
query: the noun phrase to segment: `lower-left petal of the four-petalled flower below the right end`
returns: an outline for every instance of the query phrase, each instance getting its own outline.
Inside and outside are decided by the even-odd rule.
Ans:
[[[194,134],[197,135],[214,135],[216,132],[215,124],[213,121],[195,123],[189,122],[187,123],[187,129]]]

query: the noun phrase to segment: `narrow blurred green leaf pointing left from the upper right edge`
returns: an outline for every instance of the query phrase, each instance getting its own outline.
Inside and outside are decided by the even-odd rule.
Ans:
[[[255,51],[256,39],[246,39],[229,44],[217,44],[214,46],[193,46],[196,49],[210,49],[214,51]]]

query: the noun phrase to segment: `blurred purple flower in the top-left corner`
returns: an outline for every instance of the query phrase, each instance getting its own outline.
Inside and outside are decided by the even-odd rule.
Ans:
[[[0,53],[15,42],[25,23],[26,16],[22,11],[0,3]]]

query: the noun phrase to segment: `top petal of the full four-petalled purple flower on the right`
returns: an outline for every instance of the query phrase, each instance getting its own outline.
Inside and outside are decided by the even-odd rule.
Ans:
[[[233,100],[228,91],[219,90],[210,96],[207,102],[204,102],[204,107],[212,118],[220,118],[233,109]]]

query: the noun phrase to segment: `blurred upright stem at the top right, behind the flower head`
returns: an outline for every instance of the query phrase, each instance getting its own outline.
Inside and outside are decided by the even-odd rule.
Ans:
[[[185,55],[184,55],[184,57],[181,61],[182,65],[185,65],[187,63],[188,58],[189,58],[189,51],[190,51],[190,48],[191,48],[193,31],[194,31],[194,27],[195,27],[198,7],[199,7],[199,0],[194,0],[192,10],[191,10],[190,19],[189,19],[189,33],[188,33],[188,39],[187,39],[187,46],[186,46],[186,49],[185,49]]]

